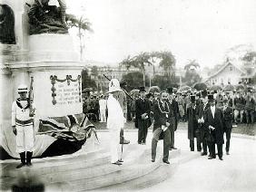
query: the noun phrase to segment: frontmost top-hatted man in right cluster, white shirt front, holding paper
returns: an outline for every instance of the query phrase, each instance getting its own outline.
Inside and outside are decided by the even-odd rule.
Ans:
[[[210,157],[208,159],[216,158],[215,154],[215,144],[217,144],[218,156],[220,160],[222,158],[222,145],[224,143],[223,139],[223,114],[222,110],[216,107],[215,100],[213,95],[208,95],[208,100],[211,104],[211,107],[205,110],[205,125],[209,129],[209,137],[207,141],[209,142]]]

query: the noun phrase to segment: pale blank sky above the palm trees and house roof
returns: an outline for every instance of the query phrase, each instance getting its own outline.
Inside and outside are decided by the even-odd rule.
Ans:
[[[228,49],[256,47],[255,0],[66,0],[84,15],[86,60],[118,63],[128,55],[171,51],[176,65],[222,63]]]

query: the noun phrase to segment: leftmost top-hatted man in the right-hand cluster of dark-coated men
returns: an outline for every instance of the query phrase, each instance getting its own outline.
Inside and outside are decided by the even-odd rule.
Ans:
[[[190,139],[191,151],[194,151],[194,138],[196,138],[197,151],[201,151],[201,140],[200,140],[200,130],[198,129],[198,121],[196,119],[196,100],[195,95],[191,95],[192,104],[187,110],[188,114],[188,139]]]

